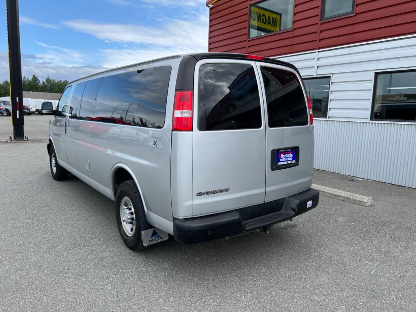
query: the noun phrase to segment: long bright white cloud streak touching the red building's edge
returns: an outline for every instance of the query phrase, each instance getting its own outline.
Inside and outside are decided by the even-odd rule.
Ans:
[[[187,21],[165,18],[160,23],[161,27],[99,23],[92,20],[67,20],[62,23],[73,30],[112,42],[182,47],[195,51],[206,51],[208,48],[208,13],[195,15]]]

